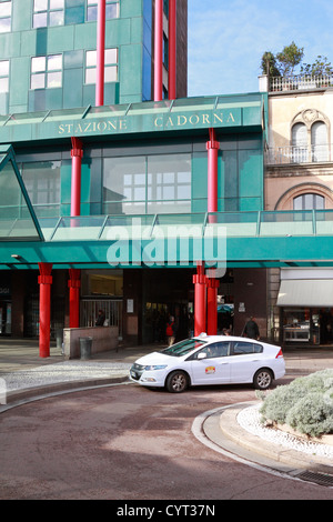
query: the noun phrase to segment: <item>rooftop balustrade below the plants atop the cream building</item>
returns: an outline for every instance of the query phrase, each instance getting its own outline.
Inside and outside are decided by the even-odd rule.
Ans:
[[[273,77],[270,79],[270,91],[294,91],[333,87],[333,74],[297,74],[294,77]]]

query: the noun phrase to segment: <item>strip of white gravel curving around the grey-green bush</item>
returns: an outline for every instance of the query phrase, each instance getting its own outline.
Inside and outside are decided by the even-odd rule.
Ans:
[[[261,424],[259,412],[261,404],[243,409],[238,414],[238,423],[248,432],[263,440],[280,444],[289,450],[301,451],[310,455],[324,456],[333,460],[333,446],[312,441],[302,441],[296,436]]]

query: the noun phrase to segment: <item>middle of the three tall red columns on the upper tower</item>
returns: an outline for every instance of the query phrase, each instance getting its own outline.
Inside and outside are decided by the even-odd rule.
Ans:
[[[163,99],[163,0],[155,0],[154,101]]]

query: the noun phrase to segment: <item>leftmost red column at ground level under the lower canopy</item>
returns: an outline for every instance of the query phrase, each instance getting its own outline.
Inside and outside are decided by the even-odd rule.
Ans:
[[[51,328],[51,284],[52,264],[38,263],[39,282],[39,355],[50,357],[50,328]]]

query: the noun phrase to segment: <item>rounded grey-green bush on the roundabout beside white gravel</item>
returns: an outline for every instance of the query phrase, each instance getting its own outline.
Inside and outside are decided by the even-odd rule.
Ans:
[[[279,387],[264,400],[262,420],[289,424],[310,436],[333,433],[333,370],[322,370]]]

